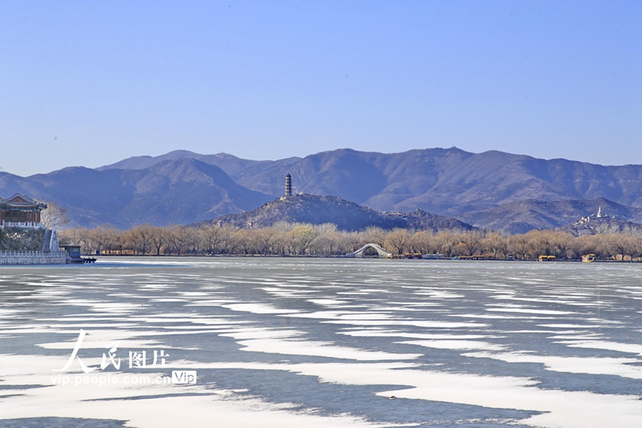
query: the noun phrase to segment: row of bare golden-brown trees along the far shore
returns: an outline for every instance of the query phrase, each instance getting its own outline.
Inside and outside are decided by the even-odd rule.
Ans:
[[[541,255],[556,260],[642,261],[642,234],[635,230],[609,231],[574,236],[559,230],[531,230],[506,235],[484,230],[426,230],[367,228],[359,232],[337,230],[336,225],[275,223],[268,228],[233,225],[201,225],[198,228],[170,225],[138,225],[119,230],[68,228],[61,242],[81,245],[96,255],[257,255],[337,257],[374,243],[394,255],[442,254],[444,258],[537,260]]]

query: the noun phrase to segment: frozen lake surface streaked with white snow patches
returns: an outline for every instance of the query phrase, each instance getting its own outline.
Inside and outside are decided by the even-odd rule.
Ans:
[[[0,427],[642,427],[642,264],[108,258],[0,315]]]

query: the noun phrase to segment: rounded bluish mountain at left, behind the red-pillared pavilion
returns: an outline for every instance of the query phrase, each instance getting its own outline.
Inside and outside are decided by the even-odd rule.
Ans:
[[[20,178],[0,174],[0,195],[25,193],[66,208],[71,225],[185,224],[251,210],[271,197],[238,185],[215,165],[161,161],[141,170],[73,167]]]

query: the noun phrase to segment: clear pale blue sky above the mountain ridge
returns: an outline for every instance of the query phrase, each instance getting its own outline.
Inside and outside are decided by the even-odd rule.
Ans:
[[[642,163],[642,1],[0,2],[0,168],[457,146]]]

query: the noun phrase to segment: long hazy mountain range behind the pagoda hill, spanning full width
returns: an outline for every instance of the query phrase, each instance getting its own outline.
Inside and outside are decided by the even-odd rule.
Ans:
[[[173,151],[89,169],[19,177],[0,173],[0,195],[26,193],[67,209],[71,225],[195,223],[253,210],[283,193],[332,195],[376,211],[419,208],[510,232],[556,228],[602,210],[642,221],[642,165],[603,166],[499,151],[341,149],[251,161]]]

